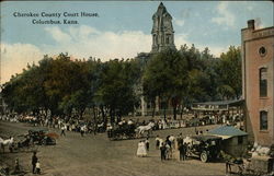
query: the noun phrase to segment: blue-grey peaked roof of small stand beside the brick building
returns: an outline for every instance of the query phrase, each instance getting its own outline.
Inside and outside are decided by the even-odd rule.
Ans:
[[[208,134],[221,137],[222,139],[228,139],[232,137],[247,136],[248,133],[241,131],[232,126],[220,126],[207,132]]]

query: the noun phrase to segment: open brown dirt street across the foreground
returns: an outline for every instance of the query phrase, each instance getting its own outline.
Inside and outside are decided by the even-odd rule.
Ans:
[[[0,137],[18,136],[37,128],[27,124],[0,121]],[[198,130],[214,126],[198,127]],[[60,130],[50,129],[60,133]],[[165,138],[168,134],[183,136],[194,133],[194,128],[181,128],[153,131]],[[155,149],[155,138],[150,138],[148,157],[137,157],[136,140],[110,141],[106,133],[85,134],[66,132],[56,145],[38,146],[37,156],[41,161],[42,175],[53,176],[181,176],[181,175],[225,175],[224,163],[202,163],[197,159],[180,162],[178,159],[161,162],[160,151]],[[178,153],[176,153],[178,154]],[[13,169],[15,159],[32,175],[31,152],[0,152],[0,163]]]

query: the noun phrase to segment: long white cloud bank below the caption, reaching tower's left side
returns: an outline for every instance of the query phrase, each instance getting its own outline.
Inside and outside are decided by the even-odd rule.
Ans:
[[[45,31],[56,42],[55,45],[44,45],[43,50],[47,54],[67,51],[78,58],[96,57],[105,61],[113,58],[133,58],[137,52],[151,49],[151,36],[140,31],[102,32],[87,25],[67,30],[47,27]],[[69,39],[57,39],[57,34]]]

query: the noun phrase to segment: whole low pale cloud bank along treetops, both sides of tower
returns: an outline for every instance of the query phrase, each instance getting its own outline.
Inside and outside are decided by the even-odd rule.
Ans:
[[[12,74],[22,72],[27,63],[37,63],[44,55],[57,56],[68,52],[73,58],[101,58],[102,61],[114,58],[134,58],[138,52],[149,52],[151,49],[151,35],[140,31],[123,31],[118,33],[103,32],[94,27],[81,25],[61,30],[59,27],[45,27],[46,35],[52,37],[53,45],[32,44],[1,44],[1,78],[2,83],[9,81]],[[191,46],[187,34],[176,34],[175,45]],[[219,46],[195,45],[199,50],[208,47],[213,55],[219,56],[227,48]]]

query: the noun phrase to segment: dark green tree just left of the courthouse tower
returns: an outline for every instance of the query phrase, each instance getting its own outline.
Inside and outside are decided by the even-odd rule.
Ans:
[[[110,60],[102,66],[100,83],[96,90],[98,99],[110,108],[111,121],[115,116],[121,120],[122,115],[134,112],[137,97],[134,83],[138,79],[138,67],[132,60]]]

